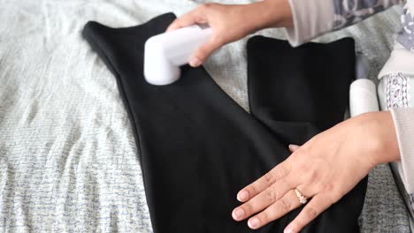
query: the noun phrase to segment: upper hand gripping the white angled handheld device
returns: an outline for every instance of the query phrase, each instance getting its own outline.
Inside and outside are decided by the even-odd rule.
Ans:
[[[167,31],[195,24],[209,24],[213,34],[189,59],[199,66],[211,53],[226,43],[242,39],[265,27],[291,26],[292,12],[288,0],[265,0],[253,4],[203,4],[173,21]]]

